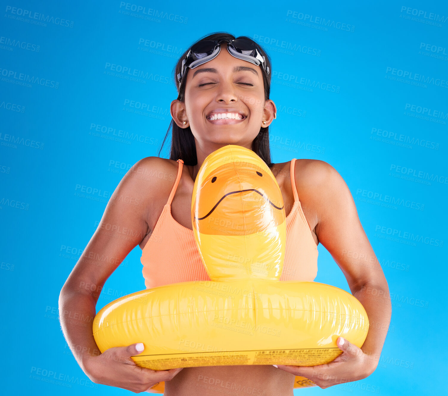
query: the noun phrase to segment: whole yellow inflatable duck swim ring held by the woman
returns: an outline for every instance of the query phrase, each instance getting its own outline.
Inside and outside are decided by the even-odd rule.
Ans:
[[[283,198],[260,157],[236,145],[212,152],[199,169],[193,197],[194,237],[211,281],[154,287],[104,306],[93,322],[101,352],[142,342],[135,363],[168,370],[315,366],[342,353],[339,336],[362,346],[369,322],[354,296],[323,283],[279,281]],[[313,385],[296,377],[294,387]],[[163,390],[164,383],[152,387]]]

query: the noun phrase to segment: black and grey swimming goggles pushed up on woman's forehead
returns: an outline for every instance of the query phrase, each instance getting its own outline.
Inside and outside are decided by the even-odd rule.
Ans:
[[[221,51],[221,43],[227,43],[227,51],[233,57],[251,62],[257,66],[261,64],[266,73],[269,74],[269,66],[266,65],[266,59],[261,55],[259,48],[253,41],[248,39],[204,40],[194,44],[182,61],[181,72],[177,74],[179,83],[185,75],[187,67],[194,69],[217,57]]]

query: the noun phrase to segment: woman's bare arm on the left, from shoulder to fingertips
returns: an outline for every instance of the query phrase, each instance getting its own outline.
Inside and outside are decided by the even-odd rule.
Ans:
[[[150,193],[164,190],[163,179],[157,177],[160,170],[167,169],[163,161],[158,157],[143,158],[121,179],[59,296],[61,328],[82,370],[95,383],[136,393],[169,381],[182,369],[154,371],[136,366],[130,357],[140,353],[137,343],[101,353],[92,335],[92,324],[104,283],[149,231],[146,219],[150,200],[154,200]]]

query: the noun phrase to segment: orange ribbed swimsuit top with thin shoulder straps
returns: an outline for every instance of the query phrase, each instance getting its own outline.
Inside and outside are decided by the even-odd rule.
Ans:
[[[142,250],[140,261],[143,265],[143,278],[147,289],[171,283],[194,280],[211,280],[202,264],[193,230],[182,226],[171,214],[171,202],[181,180],[181,159],[176,181],[154,227],[150,238]],[[294,164],[291,161],[291,183],[294,193],[294,205],[286,217],[286,247],[283,272],[280,281],[314,281],[317,275],[316,243],[300,205],[294,182]]]

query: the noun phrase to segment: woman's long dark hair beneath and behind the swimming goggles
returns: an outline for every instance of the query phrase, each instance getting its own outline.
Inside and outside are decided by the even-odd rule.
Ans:
[[[252,40],[250,37],[247,36],[239,36],[238,39],[249,39],[250,41],[253,41],[254,44],[257,45],[257,47],[260,49],[261,55],[264,56],[266,61],[266,66],[269,67],[269,74],[266,73],[266,71],[263,69],[263,67],[260,66],[260,69],[263,74],[263,83],[264,83],[264,100],[269,99],[269,93],[271,91],[271,58],[269,55],[263,50],[263,48],[256,43],[254,40]],[[227,32],[216,32],[211,35],[203,36],[202,38],[198,39],[195,43],[191,44],[190,47],[182,54],[182,56],[177,61],[176,66],[173,69],[174,73],[174,81],[176,83],[177,92],[179,93],[177,96],[177,99],[180,101],[185,100],[185,81],[188,74],[189,68],[187,68],[185,75],[182,78],[181,85],[179,86],[179,82],[177,81],[177,74],[181,72],[181,66],[182,66],[182,60],[185,59],[188,51],[190,48],[203,40],[225,40],[225,39],[235,39],[235,36],[231,35]],[[162,142],[162,146],[159,150],[159,157],[160,152],[162,151],[162,148],[164,147],[165,140],[168,137],[168,133],[170,128],[172,128],[172,134],[171,134],[171,152],[170,152],[170,159],[171,160],[177,160],[181,159],[184,161],[185,165],[196,165],[198,163],[198,158],[196,157],[196,144],[194,143],[194,136],[191,133],[190,126],[187,128],[181,128],[174,122],[173,119],[171,119],[171,123],[168,126],[168,131],[165,135],[165,138]],[[264,162],[266,162],[267,166],[271,167],[273,164],[271,163],[271,149],[269,148],[269,126],[266,128],[260,127],[260,131],[258,132],[257,137],[254,139],[252,143],[252,149],[255,152],[255,154],[258,155]]]

